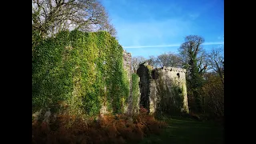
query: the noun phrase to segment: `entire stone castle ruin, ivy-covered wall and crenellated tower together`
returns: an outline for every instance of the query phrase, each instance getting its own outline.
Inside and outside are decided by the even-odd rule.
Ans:
[[[143,63],[134,74],[131,54],[107,32],[74,30],[56,37],[40,43],[33,58],[32,113],[138,114],[139,106],[150,113],[188,111],[186,70]]]

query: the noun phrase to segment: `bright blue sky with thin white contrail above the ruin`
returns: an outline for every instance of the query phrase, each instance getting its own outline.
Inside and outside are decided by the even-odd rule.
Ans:
[[[178,53],[187,35],[204,49],[224,46],[223,0],[102,0],[118,42],[132,56]]]

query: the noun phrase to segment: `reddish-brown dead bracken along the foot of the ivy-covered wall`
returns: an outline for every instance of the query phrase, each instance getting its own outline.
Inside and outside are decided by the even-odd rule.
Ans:
[[[71,115],[58,115],[49,122],[32,122],[32,143],[117,143],[140,142],[150,134],[160,134],[165,122],[160,122],[147,110],[140,109],[140,114],[98,116],[82,120]]]

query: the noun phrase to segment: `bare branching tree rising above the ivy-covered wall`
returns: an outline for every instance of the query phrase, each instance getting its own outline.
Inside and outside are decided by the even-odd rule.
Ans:
[[[32,30],[37,30],[42,37],[74,29],[116,34],[98,0],[32,0]]]

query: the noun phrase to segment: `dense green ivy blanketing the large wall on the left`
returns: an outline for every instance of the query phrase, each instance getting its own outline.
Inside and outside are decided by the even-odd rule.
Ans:
[[[62,31],[34,47],[33,110],[98,114],[102,104],[122,113],[129,96],[123,49],[106,31]],[[66,103],[62,106],[60,103]]]

